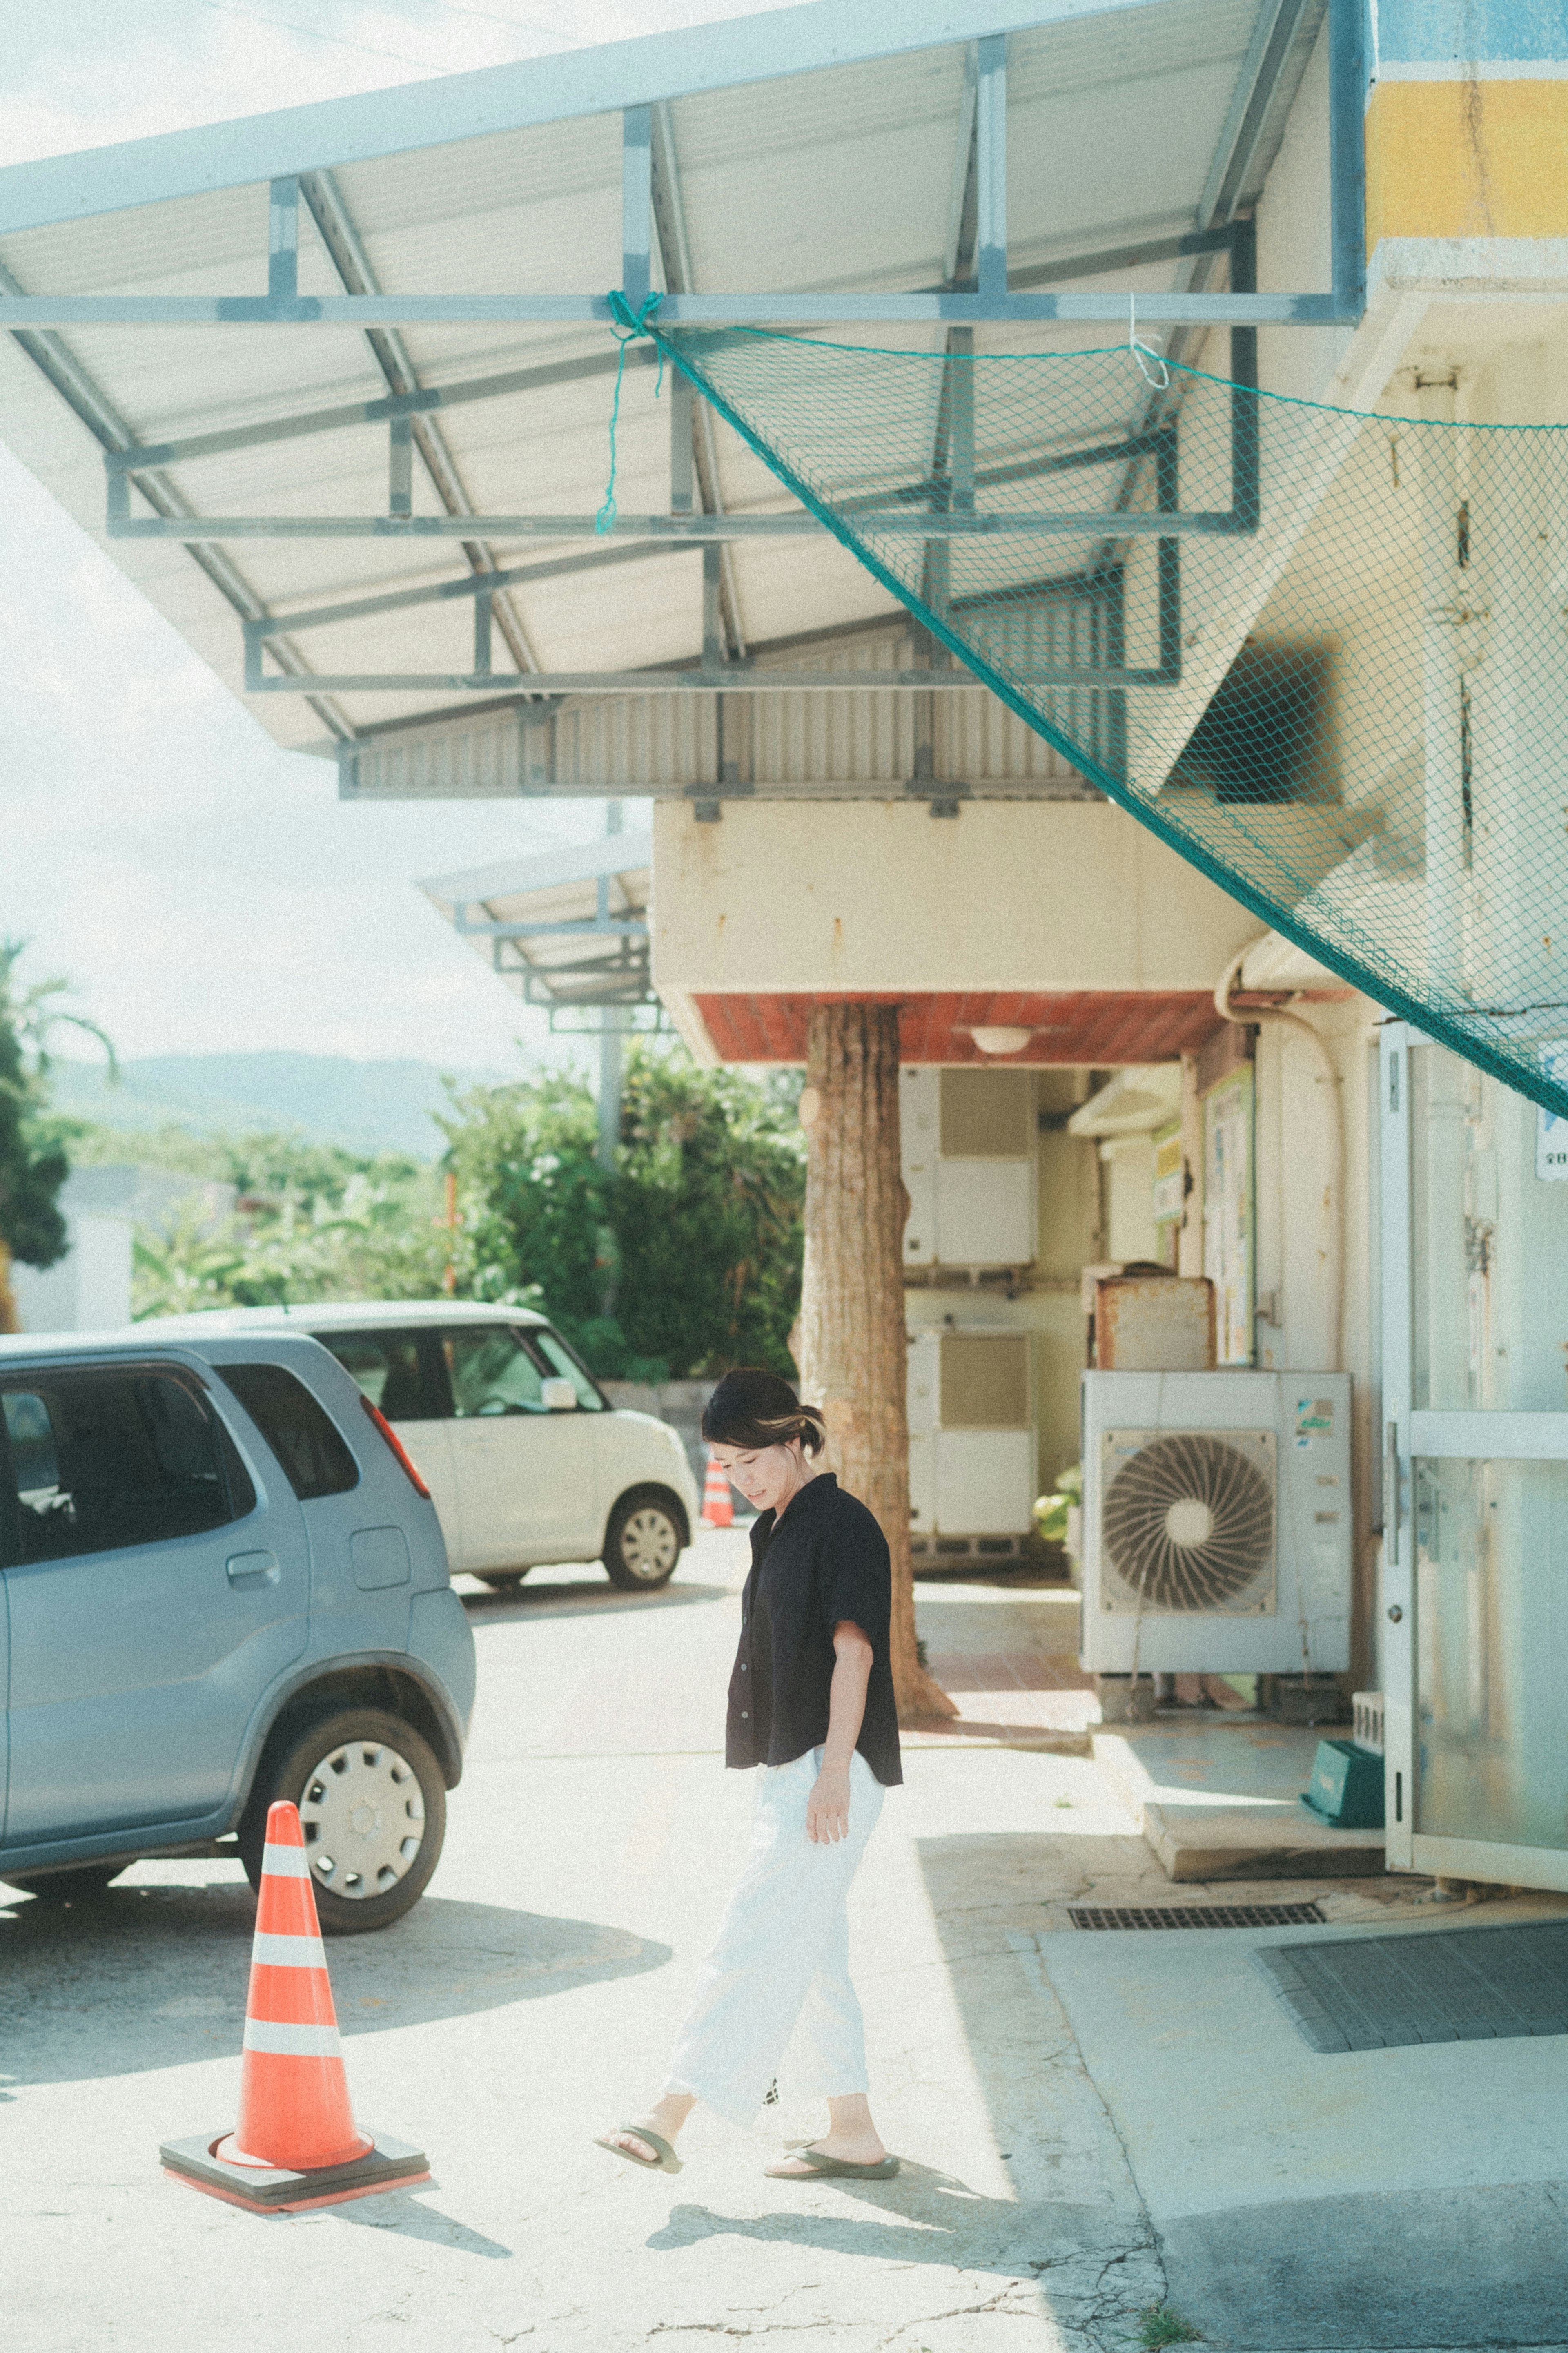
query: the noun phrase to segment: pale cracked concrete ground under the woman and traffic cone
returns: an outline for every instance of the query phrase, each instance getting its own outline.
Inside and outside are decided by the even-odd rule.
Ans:
[[[661,1598],[571,1572],[470,1595],[480,1718],[435,1887],[388,1934],[331,1946],[355,2106],[428,2146],[428,2191],[259,2221],[158,2172],[160,2139],[233,2120],[252,1925],[233,1866],[143,1864],[94,1906],[0,1908],[9,2344],[1121,2353],[1143,2306],[1182,2294],[1213,2341],[1244,2348],[1476,2344],[1448,2322],[1413,2332],[1441,2318],[1436,2297],[1410,2304],[1406,2334],[1380,2320],[1354,2337],[1345,2299],[1300,2287],[1302,2264],[1342,2275],[1352,2226],[1380,2242],[1385,2209],[1356,2209],[1410,2057],[1427,2106],[1399,2146],[1427,2139],[1453,2092],[1474,2155],[1453,2174],[1418,2151],[1401,2195],[1432,2193],[1441,2217],[1455,2184],[1521,2188],[1497,2207],[1514,2259],[1556,2264],[1556,2235],[1530,2252],[1521,2233],[1561,2169],[1566,2111],[1523,2101],[1519,2047],[1368,2054],[1342,2106],[1352,2078],[1316,2071],[1347,2061],[1302,2059],[1284,2019],[1234,1995],[1227,1937],[1063,1934],[1077,1897],[1199,1889],[1168,1885],[1088,1758],[1039,1746],[1048,1727],[912,1741],[860,1873],[856,1977],[896,2181],[766,2181],[778,2139],[823,2122],[788,2080],[769,2132],[698,2113],[679,2177],[597,2151],[592,2132],[658,2082],[745,1838],[750,1786],[719,1758],[743,1560],[738,1534],[703,1537]],[[922,1586],[919,1619],[933,1657],[1046,1654],[1034,1626],[1060,1602]],[[1389,1892],[1338,1882],[1328,1908],[1385,1918],[1371,1897]],[[1394,2061],[1382,2089],[1378,2061]],[[1359,2169],[1324,2174],[1335,2115]],[[1415,2214],[1406,2200],[1399,2228]],[[1276,2278],[1281,2228],[1295,2268]],[[1540,2299],[1528,2332],[1502,2287],[1493,2306],[1488,2341],[1542,2339]]]

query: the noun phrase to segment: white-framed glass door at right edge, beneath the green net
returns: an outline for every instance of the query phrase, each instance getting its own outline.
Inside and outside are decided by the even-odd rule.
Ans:
[[[1380,1104],[1389,1864],[1568,1889],[1568,1184],[1403,1024]]]

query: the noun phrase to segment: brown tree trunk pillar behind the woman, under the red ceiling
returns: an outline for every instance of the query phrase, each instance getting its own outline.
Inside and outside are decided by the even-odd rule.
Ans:
[[[802,1395],[827,1417],[830,1468],[889,1539],[898,1722],[957,1715],[914,1652],[896,1005],[813,1005],[799,1118],[809,1139]]]

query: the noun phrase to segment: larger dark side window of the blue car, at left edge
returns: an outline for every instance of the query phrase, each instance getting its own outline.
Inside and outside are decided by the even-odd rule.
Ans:
[[[14,1478],[7,1565],[200,1537],[256,1501],[221,1424],[172,1374],[33,1374],[0,1393],[0,1417]]]

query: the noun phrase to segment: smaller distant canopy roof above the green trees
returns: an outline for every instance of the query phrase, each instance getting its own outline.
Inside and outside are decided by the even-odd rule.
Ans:
[[[421,889],[527,1005],[550,1007],[550,1028],[590,1028],[604,1007],[658,1002],[649,976],[651,885],[654,838],[609,833],[435,875]]]

